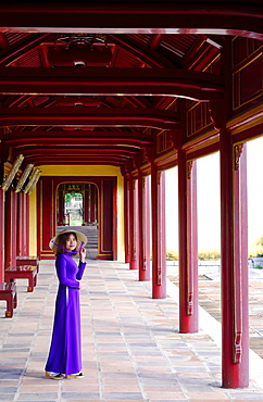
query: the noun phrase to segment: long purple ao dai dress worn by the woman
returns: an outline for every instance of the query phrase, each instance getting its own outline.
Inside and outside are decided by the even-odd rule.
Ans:
[[[82,370],[79,282],[86,263],[77,266],[71,254],[58,254],[55,261],[59,290],[53,334],[46,365],[47,372],[76,374]]]

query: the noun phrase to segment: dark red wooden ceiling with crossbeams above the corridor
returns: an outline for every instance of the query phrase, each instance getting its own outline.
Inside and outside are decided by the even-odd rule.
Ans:
[[[35,165],[124,166],[158,133],[180,129],[181,100],[223,99],[225,24],[227,35],[240,32],[248,9],[204,3],[203,16],[196,1],[191,11],[180,1],[1,4],[2,143]],[[254,1],[243,36],[263,39],[260,10]]]

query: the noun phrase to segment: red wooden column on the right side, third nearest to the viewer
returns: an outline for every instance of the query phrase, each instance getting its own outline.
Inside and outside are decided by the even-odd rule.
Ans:
[[[165,173],[151,164],[152,298],[166,298]]]

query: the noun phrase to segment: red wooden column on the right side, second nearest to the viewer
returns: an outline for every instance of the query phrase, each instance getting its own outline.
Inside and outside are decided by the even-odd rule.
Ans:
[[[197,168],[178,150],[179,331],[198,331]]]

